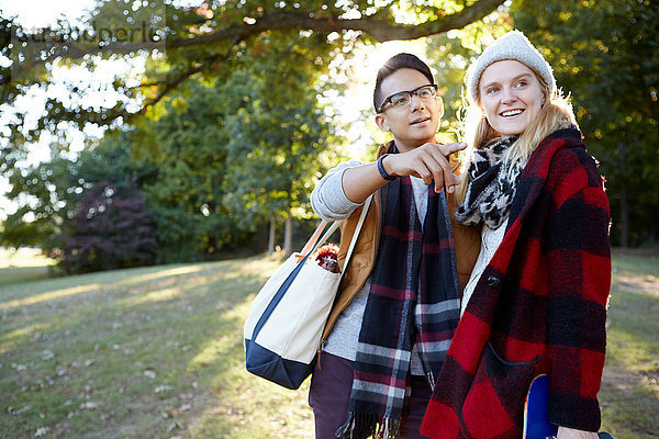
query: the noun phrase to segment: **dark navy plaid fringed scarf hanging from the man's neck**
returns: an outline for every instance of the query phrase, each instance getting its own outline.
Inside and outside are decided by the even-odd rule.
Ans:
[[[460,296],[445,192],[428,185],[423,227],[412,183],[389,183],[387,211],[361,323],[348,419],[337,437],[395,438],[410,396],[410,360],[417,345],[428,383],[458,326]]]

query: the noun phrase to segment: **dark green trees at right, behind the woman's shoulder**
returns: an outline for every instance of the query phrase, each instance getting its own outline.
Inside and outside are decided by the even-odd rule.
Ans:
[[[571,93],[585,143],[612,202],[612,238],[657,239],[659,210],[659,3],[650,0],[513,4],[515,24],[543,48]]]

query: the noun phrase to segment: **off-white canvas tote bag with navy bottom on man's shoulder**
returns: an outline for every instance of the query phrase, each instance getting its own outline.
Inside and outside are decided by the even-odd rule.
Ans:
[[[364,203],[344,271],[371,200],[372,195]],[[300,387],[312,372],[343,273],[325,270],[310,257],[340,223],[334,222],[319,240],[327,224],[322,222],[302,252],[291,255],[256,295],[244,328],[245,362],[249,372],[291,390]]]

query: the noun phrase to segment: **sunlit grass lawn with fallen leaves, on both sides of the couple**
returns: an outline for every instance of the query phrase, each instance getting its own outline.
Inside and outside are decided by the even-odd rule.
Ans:
[[[0,264],[0,438],[312,438],[308,383],[292,392],[244,370],[243,322],[278,263],[46,279]],[[614,267],[603,428],[656,438],[659,259]]]

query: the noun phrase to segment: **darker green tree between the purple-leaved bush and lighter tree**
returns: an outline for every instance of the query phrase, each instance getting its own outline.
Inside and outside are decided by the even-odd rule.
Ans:
[[[241,235],[222,203],[226,175],[224,98],[190,81],[155,121],[137,128],[135,154],[157,168],[144,190],[158,212],[159,260],[199,260]]]

